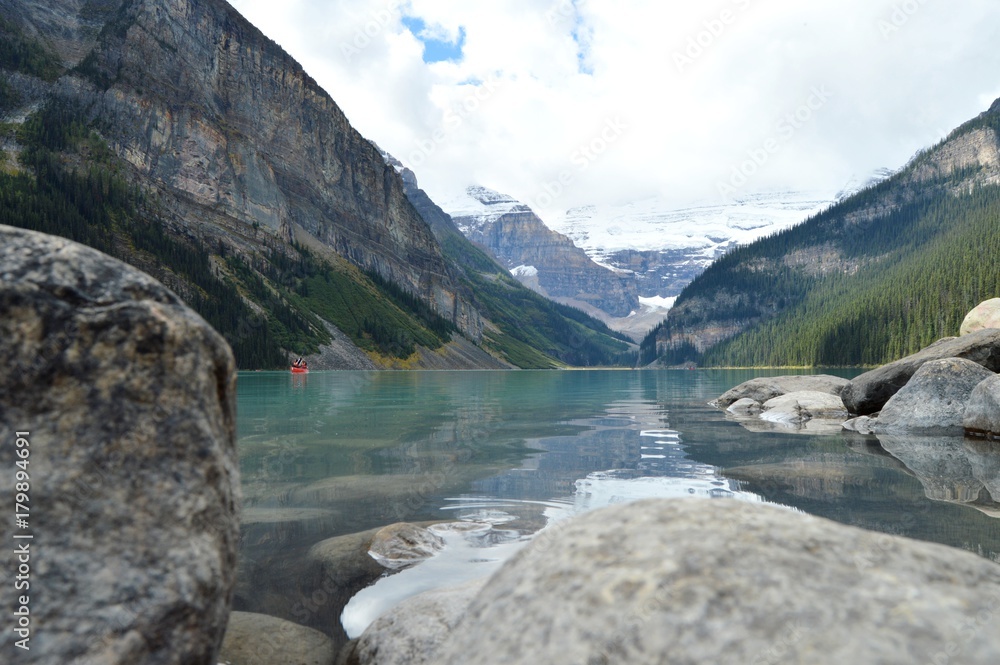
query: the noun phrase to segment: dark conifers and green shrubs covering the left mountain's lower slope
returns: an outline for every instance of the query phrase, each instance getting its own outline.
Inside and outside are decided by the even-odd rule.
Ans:
[[[360,348],[407,358],[438,348],[452,324],[375,274],[333,266],[305,248],[239,254],[170,232],[156,202],[130,185],[124,167],[81,114],[49,104],[17,134],[24,171],[0,174],[0,223],[70,238],[150,270],[178,289],[222,333],[241,368],[275,369],[288,353],[331,340],[322,319]],[[217,265],[225,266],[227,275]],[[261,312],[261,313],[258,313]]]

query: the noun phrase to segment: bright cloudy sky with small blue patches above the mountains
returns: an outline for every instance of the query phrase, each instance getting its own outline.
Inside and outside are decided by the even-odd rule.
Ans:
[[[1000,97],[996,0],[231,0],[444,200],[832,194]]]

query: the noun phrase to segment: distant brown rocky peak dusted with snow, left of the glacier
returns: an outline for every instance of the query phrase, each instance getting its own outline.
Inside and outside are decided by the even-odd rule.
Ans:
[[[469,240],[532,290],[608,317],[626,317],[639,309],[631,271],[594,262],[523,203],[485,187],[469,187],[465,196],[444,207]]]

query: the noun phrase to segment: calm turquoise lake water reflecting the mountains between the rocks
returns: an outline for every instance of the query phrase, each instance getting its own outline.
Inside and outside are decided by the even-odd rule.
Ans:
[[[1000,444],[752,432],[707,404],[788,373],[241,373],[234,609],[343,641],[413,593],[489,574],[554,522],[648,497],[766,501],[1000,561]],[[446,520],[468,524],[441,530],[433,559],[352,590],[343,616],[347,598],[309,570],[320,541]]]

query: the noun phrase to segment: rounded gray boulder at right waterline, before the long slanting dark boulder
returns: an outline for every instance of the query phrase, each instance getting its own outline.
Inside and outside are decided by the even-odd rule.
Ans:
[[[872,430],[876,434],[949,431],[961,434],[965,405],[973,389],[995,376],[971,360],[929,361],[889,398]]]

